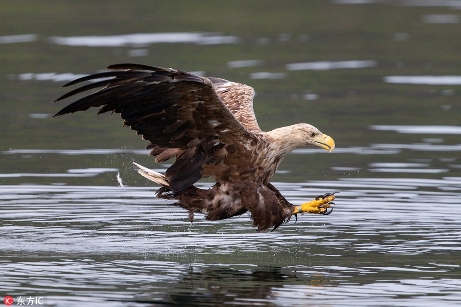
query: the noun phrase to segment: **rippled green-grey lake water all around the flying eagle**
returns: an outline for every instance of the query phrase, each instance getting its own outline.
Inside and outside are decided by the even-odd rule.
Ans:
[[[2,2],[0,298],[459,306],[460,14],[453,1],[374,2]],[[66,81],[123,62],[245,82],[263,129],[329,134],[333,152],[295,150],[273,183],[294,204],[338,191],[332,214],[272,232],[247,214],[191,224],[136,173],[133,161],[169,164],[118,115],[49,120]]]

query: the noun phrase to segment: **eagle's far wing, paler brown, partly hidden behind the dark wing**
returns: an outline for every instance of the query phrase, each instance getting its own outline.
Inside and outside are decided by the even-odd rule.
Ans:
[[[253,110],[254,89],[246,84],[219,78],[210,78],[214,89],[232,114],[251,132],[259,133],[258,122]]]

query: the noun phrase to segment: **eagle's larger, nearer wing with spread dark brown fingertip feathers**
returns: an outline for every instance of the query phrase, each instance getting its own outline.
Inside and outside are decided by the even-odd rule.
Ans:
[[[102,79],[56,99],[100,88],[66,106],[54,116],[100,107],[99,113],[120,113],[125,126],[149,141],[156,161],[176,157],[165,177],[173,191],[184,190],[202,178],[203,166],[219,164],[225,156],[246,156],[258,136],[237,120],[216,93],[212,81],[181,70],[137,64],[111,65],[114,71],[67,83]],[[233,99],[238,97],[233,96]],[[53,116],[53,117],[54,117]],[[238,152],[236,152],[238,148]],[[236,159],[233,159],[236,161]],[[229,167],[229,166],[227,166]],[[211,168],[216,172],[222,168]],[[219,174],[210,174],[219,177]]]

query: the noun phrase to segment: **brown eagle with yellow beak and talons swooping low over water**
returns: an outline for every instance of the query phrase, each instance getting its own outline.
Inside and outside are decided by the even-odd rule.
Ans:
[[[270,183],[294,149],[334,149],[333,139],[319,129],[296,124],[262,131],[253,111],[254,89],[243,83],[140,64],[107,69],[65,84],[91,81],[55,102],[99,90],[53,117],[91,107],[99,107],[98,114],[120,113],[124,126],[149,142],[146,149],[155,162],[174,158],[165,174],[135,164],[142,176],[161,185],[157,198],[176,200],[175,205],[189,211],[191,222],[194,213],[215,221],[249,211],[259,231],[274,230],[298,213],[331,213],[334,193],[293,205]],[[213,187],[194,186],[206,177],[214,179]]]

